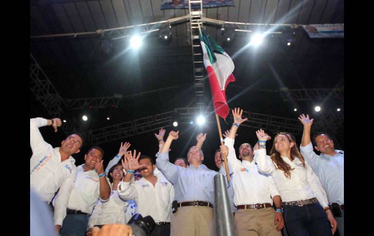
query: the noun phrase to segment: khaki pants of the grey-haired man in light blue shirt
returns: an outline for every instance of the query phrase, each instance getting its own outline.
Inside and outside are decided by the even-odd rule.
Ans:
[[[215,236],[214,210],[207,206],[178,207],[171,215],[170,236]]]

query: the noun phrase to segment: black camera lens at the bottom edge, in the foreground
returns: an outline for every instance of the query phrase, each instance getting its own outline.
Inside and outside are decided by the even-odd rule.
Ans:
[[[151,216],[142,217],[135,214],[127,225],[133,229],[133,236],[150,236],[156,228],[156,223]]]

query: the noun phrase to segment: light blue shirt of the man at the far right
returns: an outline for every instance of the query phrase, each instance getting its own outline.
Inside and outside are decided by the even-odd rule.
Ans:
[[[312,143],[300,146],[300,153],[320,179],[327,194],[328,203],[344,204],[344,152],[335,150],[334,156],[313,151]]]

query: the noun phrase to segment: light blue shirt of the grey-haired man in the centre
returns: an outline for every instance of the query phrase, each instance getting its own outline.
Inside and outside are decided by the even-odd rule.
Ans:
[[[218,172],[208,169],[204,164],[195,168],[184,168],[169,162],[169,152],[158,155],[157,168],[174,185],[174,200],[209,201],[214,205],[214,176]]]

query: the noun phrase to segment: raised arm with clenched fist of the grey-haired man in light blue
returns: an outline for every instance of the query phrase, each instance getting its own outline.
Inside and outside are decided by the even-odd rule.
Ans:
[[[170,131],[165,145],[162,146],[160,155],[156,159],[157,168],[172,184],[175,184],[178,181],[179,168],[182,168],[169,162],[169,148],[171,142],[178,139],[178,133],[179,131]]]

